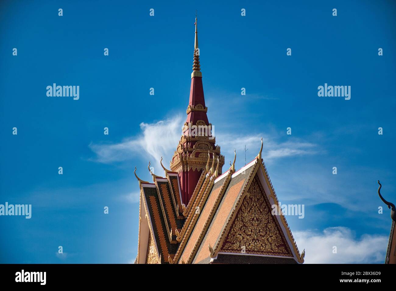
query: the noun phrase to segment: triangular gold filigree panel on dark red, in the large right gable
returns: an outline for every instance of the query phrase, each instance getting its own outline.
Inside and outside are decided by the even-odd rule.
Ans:
[[[255,177],[220,251],[292,257],[271,209],[264,189]]]

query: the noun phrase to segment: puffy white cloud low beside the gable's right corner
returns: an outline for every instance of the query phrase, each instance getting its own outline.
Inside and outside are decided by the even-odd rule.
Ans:
[[[388,245],[386,236],[364,234],[360,239],[346,227],[330,227],[323,232],[293,233],[300,252],[305,249],[308,264],[383,263]],[[333,253],[333,247],[337,253]]]

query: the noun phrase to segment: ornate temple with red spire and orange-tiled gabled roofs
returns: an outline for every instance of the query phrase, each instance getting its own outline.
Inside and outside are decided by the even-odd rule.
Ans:
[[[301,264],[267,169],[257,156],[223,173],[224,156],[212,135],[205,105],[197,19],[187,119],[164,176],[135,176],[140,188],[137,264]],[[257,149],[259,141],[257,141]]]

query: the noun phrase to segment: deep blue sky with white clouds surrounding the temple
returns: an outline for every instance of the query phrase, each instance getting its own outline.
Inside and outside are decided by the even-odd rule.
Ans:
[[[378,179],[396,201],[395,2],[277,3],[2,2],[0,204],[32,204],[32,218],[0,217],[0,262],[135,259],[133,169],[149,180],[151,160],[162,175],[160,156],[168,165],[176,149],[198,10],[208,118],[226,165],[234,148],[244,165],[244,145],[252,160],[263,137],[278,199],[305,205],[304,219],[287,221],[306,261],[382,263],[391,221]],[[80,99],[47,97],[53,83],[80,86]],[[318,97],[325,83],[351,86],[351,99]]]

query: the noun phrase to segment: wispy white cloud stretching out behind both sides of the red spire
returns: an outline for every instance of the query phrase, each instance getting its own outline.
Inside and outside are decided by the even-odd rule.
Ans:
[[[181,116],[152,124],[141,123],[142,132],[137,137],[131,137],[115,144],[91,143],[89,148],[96,154],[94,160],[97,162],[106,164],[121,162],[145,152],[148,158],[153,158],[159,166],[161,156],[164,156],[165,160],[170,160],[181,137],[182,125],[183,118]],[[235,133],[224,133],[224,131],[219,135],[216,132],[214,134],[216,143],[221,145],[222,154],[229,156],[231,160],[234,156],[234,149],[237,151],[238,159],[244,156],[245,145],[246,148],[251,148],[250,152],[253,149],[258,152],[261,137],[263,137],[263,158],[265,161],[316,154],[315,144],[292,137],[288,137],[289,141],[281,142],[278,141],[277,136],[265,134],[236,135]]]

